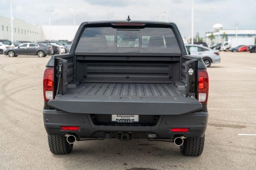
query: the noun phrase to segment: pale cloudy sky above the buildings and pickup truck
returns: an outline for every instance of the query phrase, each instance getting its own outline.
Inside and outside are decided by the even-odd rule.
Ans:
[[[175,22],[183,37],[191,36],[191,0],[13,0],[13,17],[27,23],[52,25],[76,24],[92,20],[168,21]],[[10,0],[0,0],[0,16],[10,18]],[[256,29],[256,0],[194,0],[194,35],[203,37],[212,26],[221,23],[223,29]]]

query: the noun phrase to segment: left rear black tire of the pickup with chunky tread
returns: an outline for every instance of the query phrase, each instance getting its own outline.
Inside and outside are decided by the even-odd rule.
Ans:
[[[53,154],[68,154],[73,149],[73,144],[69,144],[64,136],[48,135],[48,144]]]

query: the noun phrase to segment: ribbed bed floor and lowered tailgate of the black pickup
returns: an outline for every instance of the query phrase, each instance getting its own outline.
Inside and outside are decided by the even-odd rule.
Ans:
[[[48,105],[70,113],[176,115],[202,108],[184,86],[152,83],[81,83]]]

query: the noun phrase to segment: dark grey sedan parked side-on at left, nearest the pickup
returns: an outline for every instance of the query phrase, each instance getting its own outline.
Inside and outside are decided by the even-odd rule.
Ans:
[[[18,55],[38,55],[38,57],[45,57],[53,53],[51,47],[39,43],[23,43],[18,47],[8,48],[4,51],[5,55],[9,57],[17,57]]]

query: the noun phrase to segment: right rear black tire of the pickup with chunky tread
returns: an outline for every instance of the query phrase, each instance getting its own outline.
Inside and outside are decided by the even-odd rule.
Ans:
[[[186,138],[183,145],[180,146],[180,152],[184,156],[200,156],[203,150],[204,136]]]

